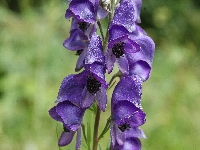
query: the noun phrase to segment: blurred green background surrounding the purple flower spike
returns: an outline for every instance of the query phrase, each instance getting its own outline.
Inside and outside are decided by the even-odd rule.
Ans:
[[[70,29],[65,2],[0,1],[1,150],[59,149],[62,126],[48,110],[77,59],[62,46]],[[143,0],[141,26],[156,43],[151,78],[143,84],[143,150],[200,149],[199,8],[199,0]],[[108,139],[109,133],[102,147]],[[65,149],[74,149],[74,141]]]

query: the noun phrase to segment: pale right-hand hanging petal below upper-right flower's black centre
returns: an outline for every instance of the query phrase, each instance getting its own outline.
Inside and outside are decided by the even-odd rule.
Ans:
[[[116,63],[122,74],[129,74],[129,64],[126,55],[122,55],[120,58],[116,59]]]

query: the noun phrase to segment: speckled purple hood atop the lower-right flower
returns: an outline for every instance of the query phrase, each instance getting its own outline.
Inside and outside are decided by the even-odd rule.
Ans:
[[[140,108],[142,94],[142,81],[137,76],[124,76],[116,85],[112,95],[112,105],[119,101],[127,100]]]

